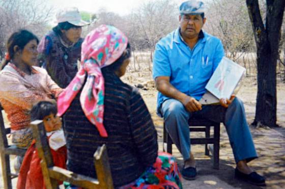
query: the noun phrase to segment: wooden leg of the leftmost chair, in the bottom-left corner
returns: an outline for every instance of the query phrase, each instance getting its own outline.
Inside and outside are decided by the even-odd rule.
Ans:
[[[2,165],[2,177],[4,181],[5,189],[12,189],[11,169],[10,169],[10,157],[4,153],[1,153],[1,165]]]

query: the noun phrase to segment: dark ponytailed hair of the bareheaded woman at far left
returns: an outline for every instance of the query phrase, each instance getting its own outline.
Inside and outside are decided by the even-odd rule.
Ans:
[[[32,40],[36,40],[37,44],[39,44],[39,39],[35,36],[31,31],[20,29],[13,33],[6,44],[7,52],[9,53],[10,59],[12,59],[15,55],[14,47],[18,46],[20,50],[23,50],[25,45]],[[0,70],[2,70],[10,61],[10,59],[4,59],[0,66]]]

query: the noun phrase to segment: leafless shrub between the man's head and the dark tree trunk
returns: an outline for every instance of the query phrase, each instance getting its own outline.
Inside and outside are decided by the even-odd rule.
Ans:
[[[206,17],[205,29],[221,39],[227,55],[234,60],[255,48],[244,0],[214,0],[208,5]]]

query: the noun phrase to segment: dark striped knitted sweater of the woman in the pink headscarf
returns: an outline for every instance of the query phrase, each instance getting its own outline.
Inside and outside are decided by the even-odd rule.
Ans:
[[[100,137],[95,125],[84,115],[79,96],[64,115],[68,169],[96,177],[93,154],[106,144],[115,187],[137,179],[157,157],[157,133],[151,115],[137,89],[106,72],[104,127],[107,138]]]

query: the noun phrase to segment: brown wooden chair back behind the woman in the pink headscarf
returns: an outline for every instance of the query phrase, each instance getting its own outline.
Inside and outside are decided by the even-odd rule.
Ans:
[[[33,137],[36,139],[36,147],[41,158],[41,168],[47,189],[57,188],[58,180],[68,181],[71,184],[83,188],[113,188],[113,181],[105,144],[98,147],[94,153],[94,164],[98,178],[95,179],[53,166],[52,156],[47,143],[46,132],[42,121],[33,121],[31,123],[31,127],[33,129]]]

